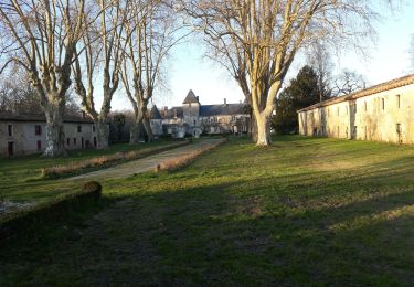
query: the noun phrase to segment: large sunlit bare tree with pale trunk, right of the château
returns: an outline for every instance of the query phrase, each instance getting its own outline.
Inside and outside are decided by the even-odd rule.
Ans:
[[[230,53],[244,59],[258,146],[270,144],[276,95],[297,52],[317,39],[358,46],[374,32],[373,7],[354,0],[183,0],[212,44],[233,43]]]

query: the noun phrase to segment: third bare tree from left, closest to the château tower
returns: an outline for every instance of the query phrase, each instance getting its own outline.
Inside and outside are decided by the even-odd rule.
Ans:
[[[135,113],[130,144],[138,144],[140,125],[144,125],[148,141],[153,140],[147,106],[156,88],[162,86],[162,64],[170,50],[188,35],[180,33],[182,25],[178,25],[170,7],[162,0],[137,1],[131,6],[134,17],[125,22],[125,29],[131,35],[121,73]]]

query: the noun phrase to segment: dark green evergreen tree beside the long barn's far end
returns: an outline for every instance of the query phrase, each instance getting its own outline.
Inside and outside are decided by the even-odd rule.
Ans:
[[[325,93],[323,93],[325,94]],[[322,99],[329,98],[329,95]],[[320,102],[318,75],[312,67],[304,66],[296,78],[284,88],[276,102],[276,116],[273,127],[278,134],[298,131],[297,110]]]

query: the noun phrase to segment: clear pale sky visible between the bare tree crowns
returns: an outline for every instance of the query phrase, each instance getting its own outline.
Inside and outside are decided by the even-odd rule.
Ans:
[[[352,52],[333,56],[333,75],[344,68],[354,71],[363,75],[367,86],[371,86],[414,73],[408,53],[411,35],[414,34],[414,0],[407,0],[397,12],[382,12],[381,21],[375,24],[376,40],[365,51],[368,57]],[[199,96],[202,105],[221,104],[224,98],[227,103],[244,100],[240,87],[227,71],[203,55],[202,43],[190,42],[177,46],[167,62],[169,88],[155,95],[153,104],[158,107],[181,106],[190,89]],[[285,83],[304,64],[298,56]],[[120,91],[114,98],[113,108],[116,110],[130,108],[123,94]]]

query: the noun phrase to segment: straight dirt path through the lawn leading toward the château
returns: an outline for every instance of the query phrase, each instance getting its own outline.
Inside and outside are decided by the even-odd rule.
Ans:
[[[177,149],[163,151],[144,159],[129,161],[127,163],[117,164],[112,168],[88,172],[82,176],[67,178],[66,180],[102,180],[102,179],[119,179],[126,178],[136,173],[142,173],[153,170],[158,163],[168,159],[173,159],[180,156],[188,155],[194,150],[205,146],[214,145],[222,139],[202,139],[195,144],[187,145]]]

